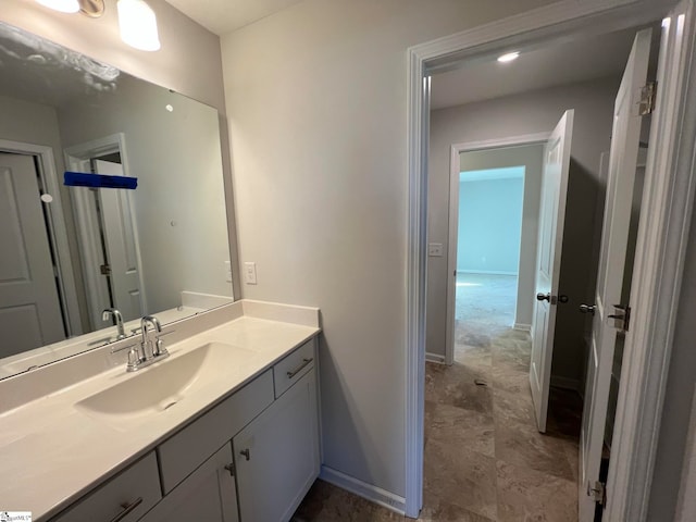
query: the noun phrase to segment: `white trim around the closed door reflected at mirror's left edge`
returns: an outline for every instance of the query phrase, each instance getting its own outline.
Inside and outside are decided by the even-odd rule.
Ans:
[[[47,231],[47,233],[51,236],[51,243],[55,249],[58,283],[61,287],[59,298],[67,315],[67,335],[69,337],[82,335],[83,325],[79,316],[79,303],[77,301],[75,275],[73,273],[73,262],[67,243],[67,229],[65,226],[63,204],[61,202],[61,189],[58,181],[58,172],[55,171],[53,149],[44,145],[0,139],[0,150],[3,152],[35,156],[39,159],[39,175],[48,192],[53,196],[53,201],[48,206],[50,229]]]

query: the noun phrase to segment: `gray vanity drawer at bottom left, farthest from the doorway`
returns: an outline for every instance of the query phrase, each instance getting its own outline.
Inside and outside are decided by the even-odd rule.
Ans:
[[[52,522],[132,522],[162,498],[154,451],[83,497]]]

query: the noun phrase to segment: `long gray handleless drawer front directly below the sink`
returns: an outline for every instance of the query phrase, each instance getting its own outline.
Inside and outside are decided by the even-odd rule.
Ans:
[[[197,419],[158,448],[162,489],[167,494],[273,402],[271,370]]]

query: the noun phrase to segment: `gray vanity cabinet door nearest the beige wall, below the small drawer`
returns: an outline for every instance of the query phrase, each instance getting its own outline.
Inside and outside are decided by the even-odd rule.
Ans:
[[[319,475],[314,372],[232,440],[243,522],[288,521]]]

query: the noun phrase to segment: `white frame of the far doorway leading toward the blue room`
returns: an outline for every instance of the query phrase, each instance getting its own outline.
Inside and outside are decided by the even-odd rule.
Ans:
[[[449,154],[449,239],[447,244],[447,332],[445,334],[445,364],[455,362],[455,315],[457,311],[457,246],[459,241],[459,173],[460,154],[477,150],[502,149],[506,147],[523,147],[543,145],[551,133],[535,133],[508,138],[465,141],[450,146]],[[526,174],[525,174],[526,183]],[[524,198],[524,195],[523,195]],[[524,204],[524,203],[523,203]],[[450,277],[453,276],[453,279]],[[519,283],[518,283],[519,290]],[[515,311],[517,318],[517,311]],[[430,358],[432,360],[432,358]]]

